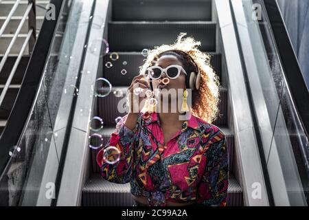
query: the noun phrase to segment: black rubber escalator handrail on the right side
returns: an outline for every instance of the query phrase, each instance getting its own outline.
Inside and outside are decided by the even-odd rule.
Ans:
[[[275,0],[263,0],[269,23],[277,44],[277,50],[284,69],[290,94],[295,103],[297,114],[308,137],[309,133],[309,91],[304,76],[301,73],[297,56],[290,42],[288,31],[280,14],[279,6]]]

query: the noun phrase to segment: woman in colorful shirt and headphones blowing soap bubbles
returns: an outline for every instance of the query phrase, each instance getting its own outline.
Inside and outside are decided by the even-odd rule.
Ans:
[[[97,156],[104,179],[130,182],[136,206],[226,206],[229,155],[225,134],[210,124],[218,114],[218,76],[209,65],[209,55],[197,49],[201,43],[183,36],[173,45],[150,50],[141,74],[128,88],[130,111],[117,123],[106,145],[119,149],[119,160],[106,163],[104,149]],[[196,76],[193,81],[187,80],[190,73]],[[149,75],[150,80],[145,80]],[[164,78],[169,80],[163,83]],[[159,105],[168,104],[168,111],[143,113],[141,97],[133,95],[136,87],[144,91],[159,87],[165,93],[181,89],[182,108],[170,111],[174,99],[162,100],[161,92]],[[188,89],[194,89],[189,111],[184,105]],[[183,111],[188,111],[189,118],[180,120]]]

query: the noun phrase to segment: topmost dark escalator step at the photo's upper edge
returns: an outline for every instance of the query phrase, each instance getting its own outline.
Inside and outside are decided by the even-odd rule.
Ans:
[[[113,0],[114,21],[210,21],[211,0]]]

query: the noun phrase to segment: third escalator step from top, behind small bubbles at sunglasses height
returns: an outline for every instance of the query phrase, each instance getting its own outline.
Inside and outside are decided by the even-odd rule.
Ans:
[[[216,74],[221,78],[221,54],[209,53],[211,55],[210,63]],[[113,56],[117,57],[113,61]],[[113,58],[115,60],[115,58]],[[128,87],[135,76],[139,75],[139,67],[144,65],[145,56],[141,52],[110,52],[104,56],[104,72],[103,77],[106,78],[111,85],[119,87]],[[108,62],[113,66],[109,67]],[[106,65],[106,63],[108,63]],[[108,66],[108,67],[106,67]],[[122,70],[126,74],[122,74]]]

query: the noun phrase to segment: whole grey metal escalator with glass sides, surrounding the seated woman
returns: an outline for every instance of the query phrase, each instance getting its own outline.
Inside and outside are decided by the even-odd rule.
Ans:
[[[51,2],[57,19],[43,21],[32,56],[21,61],[27,68],[13,79],[21,85],[0,137],[2,206],[132,206],[130,184],[102,179],[95,157],[126,115],[117,105],[145,52],[180,32],[201,41],[220,78],[212,124],[227,138],[227,206],[307,206],[309,120],[288,77],[297,61],[284,63],[293,49],[277,47],[275,1]],[[252,5],[262,19],[251,20]],[[95,95],[99,78],[108,80],[107,96]],[[93,118],[102,122],[95,131]]]

